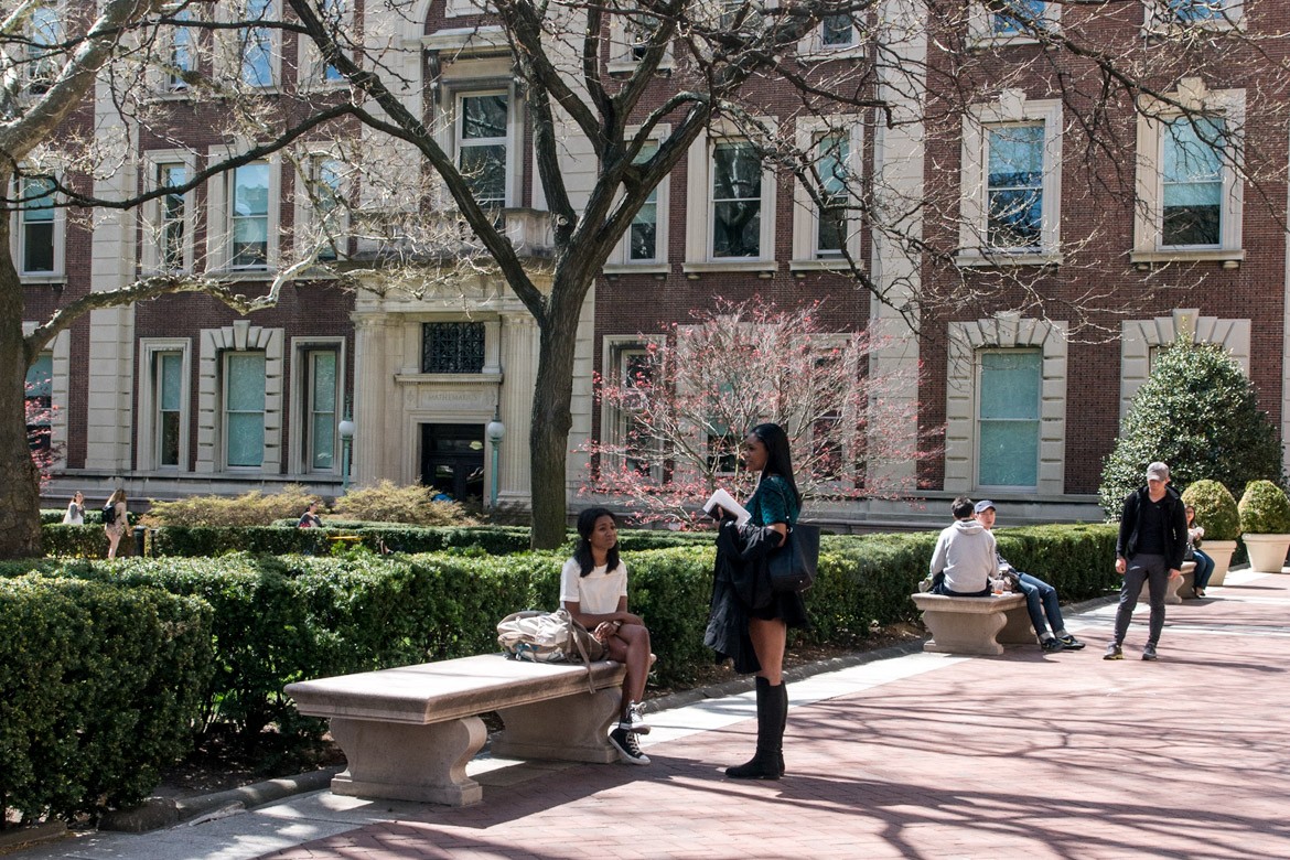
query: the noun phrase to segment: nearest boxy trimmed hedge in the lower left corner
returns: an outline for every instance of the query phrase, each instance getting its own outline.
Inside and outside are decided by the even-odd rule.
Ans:
[[[203,601],[156,589],[0,580],[0,812],[71,819],[142,801],[187,752],[210,624]]]

